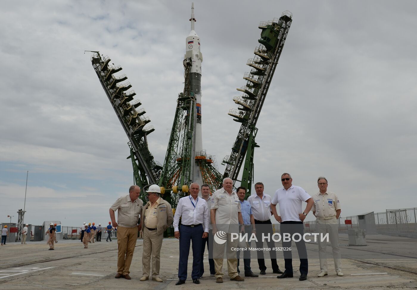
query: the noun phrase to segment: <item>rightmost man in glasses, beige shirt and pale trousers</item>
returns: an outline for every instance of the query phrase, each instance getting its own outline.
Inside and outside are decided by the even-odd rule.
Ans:
[[[313,195],[314,205],[311,209],[313,215],[316,217],[316,228],[318,233],[329,234],[329,240],[332,244],[334,269],[338,276],[343,276],[341,255],[339,249],[339,224],[337,219],[340,216],[341,208],[339,199],[336,193],[327,191],[327,179],[320,176],[317,179],[317,185],[319,186],[319,193]],[[317,277],[323,277],[327,275],[327,258],[326,258],[326,246],[327,241],[321,242],[319,240],[319,259],[321,272]]]

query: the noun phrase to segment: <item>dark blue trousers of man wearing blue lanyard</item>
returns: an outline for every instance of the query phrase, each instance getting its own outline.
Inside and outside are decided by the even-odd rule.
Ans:
[[[188,255],[190,253],[190,242],[193,247],[193,270],[191,278],[200,278],[201,264],[201,243],[203,241],[203,226],[191,228],[186,225],[180,225],[180,261],[178,264],[178,278],[187,280]]]

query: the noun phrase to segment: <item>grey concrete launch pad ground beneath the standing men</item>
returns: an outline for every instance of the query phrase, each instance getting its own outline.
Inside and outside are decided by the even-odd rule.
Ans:
[[[293,260],[294,278],[277,279],[270,261],[266,261],[266,275],[232,282],[224,265],[224,283],[218,284],[208,273],[208,260],[204,259],[201,284],[176,286],[178,280],[178,240],[164,239],[161,250],[163,283],[151,280],[140,282],[142,276],[142,240],[138,239],[131,265],[131,278],[115,279],[117,268],[117,240],[96,242],[83,248],[79,240],[61,240],[55,250],[49,251],[45,242],[7,243],[0,247],[0,289],[405,289],[417,288],[417,253],[415,239],[383,235],[367,236],[366,247],[349,247],[347,236],[340,236],[343,277],[334,271],[328,260],[329,275],[317,278],[320,272],[317,245],[307,245],[309,255],[308,280],[299,281],[298,261]],[[278,245],[278,244],[277,244]],[[328,252],[331,248],[328,247]],[[296,251],[295,251],[296,252]],[[294,254],[295,254],[294,252]],[[207,256],[207,254],[206,254]],[[345,258],[346,257],[346,258]],[[284,269],[284,260],[278,256],[278,265]],[[192,256],[188,259],[188,276],[191,278]],[[243,261],[241,261],[243,262]],[[377,264],[377,265],[375,265]],[[387,268],[388,266],[391,268]],[[251,260],[254,273],[259,273],[257,260]],[[397,269],[394,269],[397,268]],[[398,270],[401,269],[401,270]],[[404,272],[407,270],[409,272]],[[414,272],[414,273],[410,273]]]

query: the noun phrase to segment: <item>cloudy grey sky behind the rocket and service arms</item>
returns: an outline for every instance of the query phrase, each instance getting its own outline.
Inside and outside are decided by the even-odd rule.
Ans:
[[[417,47],[413,1],[194,1],[201,38],[203,147],[229,155],[227,115],[245,85],[260,21],[293,22],[257,127],[255,180],[283,172],[311,195],[317,177],[342,216],[417,207]],[[191,1],[8,1],[0,10],[0,222],[107,223],[133,183],[128,139],[91,66],[121,65],[163,163],[183,90]],[[414,52],[413,52],[414,51]],[[312,220],[311,214],[307,220]]]

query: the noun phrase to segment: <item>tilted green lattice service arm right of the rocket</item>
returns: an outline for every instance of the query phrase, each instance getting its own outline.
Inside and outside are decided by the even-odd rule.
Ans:
[[[292,14],[286,10],[280,18],[259,24],[259,28],[262,30],[261,38],[258,40],[260,45],[255,48],[254,58],[249,59],[246,63],[251,67],[251,71],[246,72],[243,77],[246,80],[246,85],[237,89],[243,94],[233,98],[234,102],[239,105],[238,110],[229,110],[229,115],[234,117],[234,121],[240,122],[241,127],[231,154],[223,159],[222,164],[226,165],[223,178],[230,177],[234,183],[236,182],[249,148],[249,156],[246,157],[245,172],[241,181],[241,185],[246,186],[249,190],[253,173],[253,148],[259,147],[255,143],[257,132],[255,126],[291,22]]]

